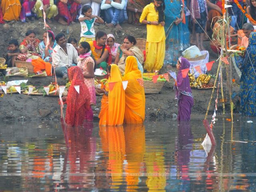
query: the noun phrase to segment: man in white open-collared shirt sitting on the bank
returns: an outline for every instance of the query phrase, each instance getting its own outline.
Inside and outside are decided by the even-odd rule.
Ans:
[[[52,52],[52,66],[55,68],[56,76],[65,79],[68,77],[68,68],[76,66],[78,53],[72,44],[67,43],[63,33],[57,34],[55,40],[57,45]]]

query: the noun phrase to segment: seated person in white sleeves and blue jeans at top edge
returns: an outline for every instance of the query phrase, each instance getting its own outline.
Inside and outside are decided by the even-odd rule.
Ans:
[[[126,0],[102,0],[100,9],[105,14],[107,26],[122,29],[120,23],[124,22],[124,7]]]

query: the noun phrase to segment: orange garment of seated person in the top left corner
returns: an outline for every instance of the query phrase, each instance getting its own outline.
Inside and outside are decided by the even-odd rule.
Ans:
[[[19,20],[21,4],[19,0],[2,0],[1,7],[4,15],[4,20]]]

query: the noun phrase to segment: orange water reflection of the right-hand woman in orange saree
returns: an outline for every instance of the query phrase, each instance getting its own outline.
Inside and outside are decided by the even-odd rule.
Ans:
[[[145,126],[128,124],[124,126],[125,152],[127,165],[125,166],[127,187],[126,191],[138,191],[139,176],[129,173],[140,173],[145,153]],[[139,145],[138,145],[139,143]]]

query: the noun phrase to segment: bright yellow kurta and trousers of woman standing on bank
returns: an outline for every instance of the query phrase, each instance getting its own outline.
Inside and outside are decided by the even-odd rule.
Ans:
[[[158,21],[158,11],[155,10],[153,3],[150,3],[143,9],[140,22],[144,19],[147,21]],[[162,68],[165,55],[165,39],[164,26],[161,24],[147,24],[146,61],[144,68],[148,72]]]

